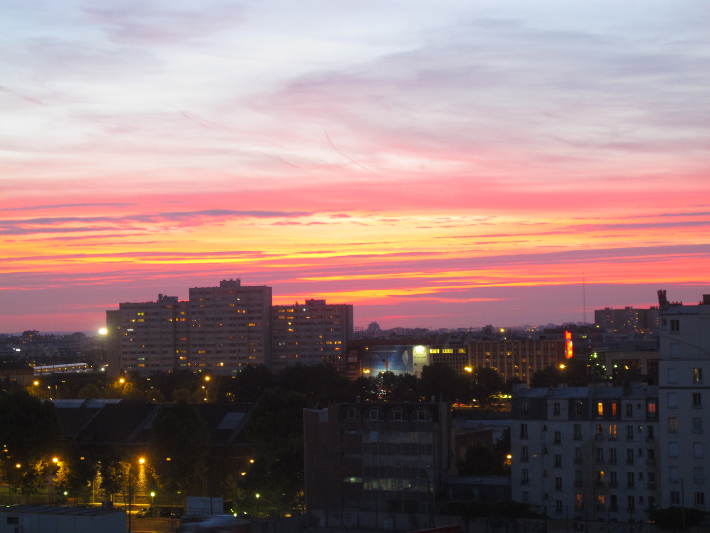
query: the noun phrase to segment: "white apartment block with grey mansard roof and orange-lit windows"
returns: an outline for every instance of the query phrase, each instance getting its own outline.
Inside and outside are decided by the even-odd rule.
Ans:
[[[551,517],[648,520],[660,499],[657,391],[640,384],[518,388],[513,500]]]

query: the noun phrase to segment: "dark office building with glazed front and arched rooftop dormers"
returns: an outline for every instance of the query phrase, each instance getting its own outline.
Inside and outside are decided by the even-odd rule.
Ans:
[[[330,404],[305,409],[305,504],[329,511],[428,512],[455,474],[444,403]]]

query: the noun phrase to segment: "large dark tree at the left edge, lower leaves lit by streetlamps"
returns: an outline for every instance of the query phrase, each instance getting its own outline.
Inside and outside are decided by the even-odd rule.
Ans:
[[[62,428],[57,408],[21,389],[0,395],[2,480],[26,497],[39,492],[49,474],[48,456],[58,450]]]

